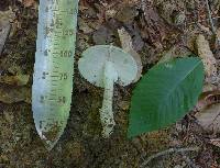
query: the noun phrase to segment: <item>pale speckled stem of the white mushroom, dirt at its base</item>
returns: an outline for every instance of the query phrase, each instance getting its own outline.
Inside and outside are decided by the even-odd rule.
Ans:
[[[118,74],[111,61],[107,61],[103,71],[103,101],[100,109],[100,120],[102,124],[102,136],[109,137],[116,125],[112,111],[113,85],[118,80]]]

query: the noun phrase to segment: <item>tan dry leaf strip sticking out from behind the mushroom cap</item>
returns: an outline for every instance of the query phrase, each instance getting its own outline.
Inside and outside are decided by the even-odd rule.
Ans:
[[[121,42],[121,46],[123,51],[128,52],[132,55],[132,57],[136,60],[139,71],[136,75],[136,78],[134,79],[134,82],[138,81],[142,76],[142,61],[140,55],[133,49],[132,38],[130,34],[122,27],[121,30],[118,30],[119,38]]]

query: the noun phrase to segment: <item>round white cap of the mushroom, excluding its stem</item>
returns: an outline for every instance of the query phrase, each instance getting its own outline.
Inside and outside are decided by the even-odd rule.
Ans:
[[[103,87],[103,71],[107,61],[111,61],[121,86],[131,83],[138,74],[134,58],[121,48],[112,45],[96,45],[82,53],[78,68],[84,78],[97,87]]]

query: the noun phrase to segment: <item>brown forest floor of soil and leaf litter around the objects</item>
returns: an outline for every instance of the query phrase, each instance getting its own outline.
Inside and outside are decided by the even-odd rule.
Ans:
[[[123,27],[141,56],[143,74],[165,55],[197,55],[199,34],[209,42],[219,69],[218,0],[209,3],[211,19],[206,0],[80,0],[74,102],[65,133],[51,152],[35,131],[31,111],[37,5],[34,0],[0,1],[0,168],[220,168],[220,131],[199,125],[195,111],[168,128],[128,139],[135,83],[117,86],[117,126],[110,138],[102,138],[103,90],[82,79],[77,68],[89,46],[121,47],[118,30]],[[219,103],[220,93],[213,92],[218,83],[207,82],[215,87],[209,89],[212,103]]]

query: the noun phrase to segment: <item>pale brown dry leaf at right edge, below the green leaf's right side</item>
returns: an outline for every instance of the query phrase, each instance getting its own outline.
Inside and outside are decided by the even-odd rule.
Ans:
[[[220,103],[210,105],[195,116],[205,131],[220,133]]]

